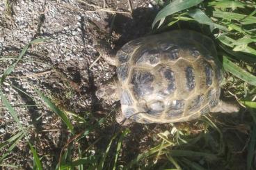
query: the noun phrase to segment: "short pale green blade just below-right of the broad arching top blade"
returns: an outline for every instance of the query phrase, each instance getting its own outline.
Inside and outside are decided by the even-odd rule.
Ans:
[[[202,12],[200,9],[190,10],[188,15],[193,17],[193,19],[195,19],[195,21],[199,22],[200,24],[208,25],[211,28],[219,28],[223,31],[228,31],[225,26],[221,26],[212,22],[211,19],[205,15],[205,12]]]

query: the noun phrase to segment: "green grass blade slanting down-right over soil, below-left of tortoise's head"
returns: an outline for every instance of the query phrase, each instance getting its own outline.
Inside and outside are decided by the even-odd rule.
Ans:
[[[38,93],[38,95],[40,96],[42,101],[45,101],[45,103],[48,105],[48,107],[53,112],[55,112],[59,117],[61,117],[62,121],[66,124],[67,128],[69,128],[71,133],[74,134],[74,128],[73,128],[70,120],[67,118],[67,115],[62,110],[60,110],[56,105],[54,105],[54,103],[52,103],[51,99],[49,99],[47,96],[42,94],[39,90],[35,90],[35,91]]]

